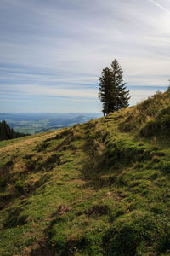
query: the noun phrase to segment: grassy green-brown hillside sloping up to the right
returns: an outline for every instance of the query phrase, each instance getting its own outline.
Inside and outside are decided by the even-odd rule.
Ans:
[[[169,106],[0,142],[0,255],[170,255]]]

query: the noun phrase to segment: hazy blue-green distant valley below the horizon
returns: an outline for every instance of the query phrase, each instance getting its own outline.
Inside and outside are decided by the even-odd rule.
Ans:
[[[14,131],[35,134],[82,124],[100,116],[101,113],[0,113],[0,121],[5,120]]]

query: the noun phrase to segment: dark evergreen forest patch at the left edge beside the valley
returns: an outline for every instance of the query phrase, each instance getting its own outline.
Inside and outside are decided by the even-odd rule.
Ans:
[[[15,132],[13,129],[11,129],[7,123],[3,120],[0,122],[0,140],[8,140],[16,137],[24,137],[25,134],[22,134],[20,132]]]

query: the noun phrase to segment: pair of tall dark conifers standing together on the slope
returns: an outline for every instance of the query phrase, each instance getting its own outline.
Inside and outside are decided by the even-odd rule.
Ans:
[[[129,90],[123,82],[123,71],[118,61],[114,60],[111,67],[105,67],[99,78],[99,99],[103,103],[104,115],[128,107]]]

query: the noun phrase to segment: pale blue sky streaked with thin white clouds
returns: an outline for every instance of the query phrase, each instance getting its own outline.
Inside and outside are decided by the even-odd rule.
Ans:
[[[99,113],[114,59],[130,105],[167,90],[169,0],[0,0],[0,113]]]

